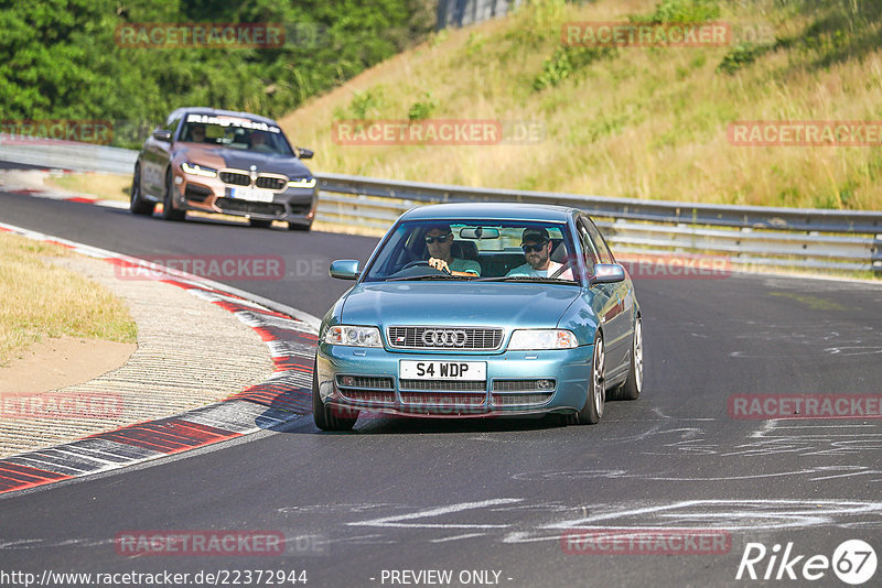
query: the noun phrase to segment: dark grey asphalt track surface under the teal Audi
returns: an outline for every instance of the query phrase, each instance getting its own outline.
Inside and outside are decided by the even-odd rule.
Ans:
[[[349,285],[326,277],[327,262],[364,261],[376,243],[14,194],[0,194],[0,221],[139,257],[280,255],[286,280],[227,283],[316,316]],[[846,586],[831,569],[807,582],[803,564],[854,538],[882,557],[880,420],[728,413],[736,394],[882,392],[882,288],[759,275],[635,283],[644,394],[607,404],[596,426],[377,417],[326,434],[306,416],[0,499],[0,570],[168,570],[190,573],[189,586],[207,585],[194,581],[200,570],[257,569],[305,570],[306,586],[341,587],[415,585],[391,581],[390,570],[429,569],[452,570],[437,586],[481,585],[472,570],[491,570],[484,585],[510,587]],[[561,535],[576,527],[714,529],[730,543],[718,554],[610,555],[585,543],[567,553]],[[153,530],[272,530],[288,545],[270,557],[117,553],[119,533]],[[798,580],[786,570],[775,579],[781,557],[768,581],[735,579],[747,543],[768,549],[755,565],[762,578],[773,545],[783,552],[788,542],[790,559],[804,556],[792,568]]]

